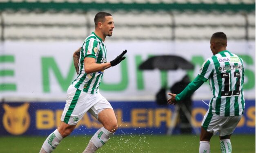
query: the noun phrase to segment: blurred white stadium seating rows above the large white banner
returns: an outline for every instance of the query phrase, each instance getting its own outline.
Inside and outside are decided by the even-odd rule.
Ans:
[[[76,0],[71,1],[75,2]],[[83,0],[83,2],[85,1]],[[113,0],[109,0],[109,2],[111,1]],[[176,2],[174,0],[162,0],[161,2],[167,1]],[[124,2],[124,0],[120,0],[120,2]],[[114,37],[111,39],[209,39],[211,33],[216,31],[225,32],[229,39],[246,39],[246,20],[245,15],[241,13],[108,12],[113,15],[115,24]],[[97,11],[87,13],[4,12],[2,16],[4,24],[7,25],[4,27],[4,37],[6,39],[85,39],[91,31],[94,31],[96,13]],[[248,13],[247,17],[248,37],[255,39],[255,14]]]

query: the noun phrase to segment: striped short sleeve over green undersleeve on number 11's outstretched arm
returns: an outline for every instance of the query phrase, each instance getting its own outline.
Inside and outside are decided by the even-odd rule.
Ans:
[[[212,70],[213,63],[211,63],[210,59],[207,59],[200,68],[198,78],[206,82],[209,79]]]

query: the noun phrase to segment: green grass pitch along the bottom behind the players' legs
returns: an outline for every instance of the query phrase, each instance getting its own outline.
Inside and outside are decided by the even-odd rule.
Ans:
[[[46,137],[0,137],[0,153],[38,153]],[[82,153],[91,136],[68,136],[54,153]],[[255,135],[233,135],[232,153],[255,153]],[[220,153],[218,136],[211,138],[211,152]],[[195,135],[113,136],[97,153],[198,153]]]

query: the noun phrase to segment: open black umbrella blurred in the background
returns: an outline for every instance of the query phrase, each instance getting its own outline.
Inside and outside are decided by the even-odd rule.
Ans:
[[[161,55],[150,57],[139,66],[140,70],[177,70],[178,68],[191,70],[194,69],[194,65],[180,56]]]

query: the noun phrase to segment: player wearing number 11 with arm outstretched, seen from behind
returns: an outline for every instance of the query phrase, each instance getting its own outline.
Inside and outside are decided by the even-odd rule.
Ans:
[[[226,50],[225,33],[214,33],[210,44],[213,56],[203,63],[196,79],[180,94],[168,93],[171,98],[167,101],[168,104],[175,105],[209,79],[213,98],[209,102],[209,109],[202,121],[199,153],[210,153],[209,141],[216,133],[219,133],[221,152],[231,153],[230,137],[245,108],[244,63],[243,59]]]

